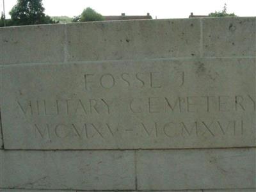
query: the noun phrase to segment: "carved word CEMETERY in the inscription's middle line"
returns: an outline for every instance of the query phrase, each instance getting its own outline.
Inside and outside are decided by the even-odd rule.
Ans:
[[[216,95],[189,97],[132,98],[129,101],[132,113],[195,113],[255,111],[255,96]]]

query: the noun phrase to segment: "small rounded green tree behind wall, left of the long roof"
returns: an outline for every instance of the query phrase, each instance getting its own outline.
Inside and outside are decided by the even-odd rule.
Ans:
[[[82,14],[74,17],[72,22],[84,22],[84,21],[96,21],[104,20],[104,17],[100,13],[95,12],[92,8],[88,7],[83,10]]]

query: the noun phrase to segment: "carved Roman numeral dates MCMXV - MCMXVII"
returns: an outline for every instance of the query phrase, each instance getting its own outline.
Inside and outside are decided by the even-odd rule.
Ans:
[[[70,124],[34,124],[35,135],[42,139],[80,138],[83,140],[114,138],[125,136],[127,131],[133,136],[145,138],[186,138],[186,137],[216,137],[241,136],[244,134],[243,120],[215,120],[194,122],[132,122],[131,127],[116,123],[70,123]],[[132,135],[131,134],[131,135]]]

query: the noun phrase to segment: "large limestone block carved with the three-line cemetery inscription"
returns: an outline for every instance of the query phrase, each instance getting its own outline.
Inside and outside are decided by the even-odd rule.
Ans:
[[[3,67],[6,149],[255,147],[255,59]]]

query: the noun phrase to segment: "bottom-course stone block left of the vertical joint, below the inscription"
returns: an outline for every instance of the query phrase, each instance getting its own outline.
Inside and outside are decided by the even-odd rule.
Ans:
[[[135,189],[132,151],[4,151],[1,187]]]

